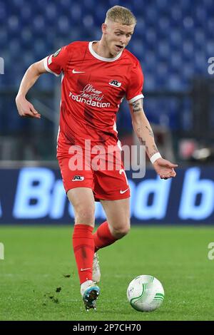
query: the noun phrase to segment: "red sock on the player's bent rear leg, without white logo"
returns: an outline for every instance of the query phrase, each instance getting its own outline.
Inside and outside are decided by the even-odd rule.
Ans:
[[[111,234],[107,221],[103,222],[98,227],[98,230],[93,234],[93,239],[95,252],[97,252],[98,249],[107,247],[107,245],[113,244],[117,241],[116,237],[113,237]]]

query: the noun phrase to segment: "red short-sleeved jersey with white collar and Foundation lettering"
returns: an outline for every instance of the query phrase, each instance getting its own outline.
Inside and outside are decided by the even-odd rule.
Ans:
[[[143,73],[128,50],[115,58],[93,51],[94,42],[73,42],[44,60],[46,71],[61,80],[58,144],[116,145],[116,113],[123,98],[133,103],[143,98]]]

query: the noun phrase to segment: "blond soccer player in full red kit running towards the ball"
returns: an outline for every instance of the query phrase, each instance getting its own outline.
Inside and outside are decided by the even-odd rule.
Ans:
[[[174,168],[178,166],[161,158],[143,111],[141,65],[126,50],[135,26],[136,18],[131,11],[113,6],[101,26],[100,41],[72,42],[32,64],[16,96],[19,115],[41,118],[26,100],[26,93],[42,73],[62,74],[57,158],[66,195],[75,212],[73,251],[87,310],[96,308],[100,292],[96,252],[121,239],[130,229],[130,190],[117,155],[121,148],[116,113],[124,97],[130,106],[133,129],[146,146],[157,174],[163,179],[175,177]],[[103,168],[94,163],[98,149],[104,149],[99,156]],[[112,163],[111,168],[105,163]],[[101,202],[107,220],[93,233],[95,200]]]

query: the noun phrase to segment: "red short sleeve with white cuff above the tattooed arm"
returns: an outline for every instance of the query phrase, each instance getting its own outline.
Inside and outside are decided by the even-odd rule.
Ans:
[[[128,80],[128,88],[126,90],[126,99],[128,103],[133,103],[143,97],[143,71],[140,62],[133,65],[131,68]]]

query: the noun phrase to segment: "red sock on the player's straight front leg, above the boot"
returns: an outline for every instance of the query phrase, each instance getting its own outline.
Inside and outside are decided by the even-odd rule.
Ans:
[[[92,280],[93,268],[93,227],[88,225],[74,225],[73,252],[76,258],[80,283]]]

